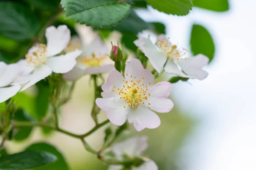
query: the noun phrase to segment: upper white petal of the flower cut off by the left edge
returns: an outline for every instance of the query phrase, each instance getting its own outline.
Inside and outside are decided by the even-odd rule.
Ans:
[[[5,87],[15,80],[20,70],[17,64],[1,65],[3,72],[0,73],[0,87]]]

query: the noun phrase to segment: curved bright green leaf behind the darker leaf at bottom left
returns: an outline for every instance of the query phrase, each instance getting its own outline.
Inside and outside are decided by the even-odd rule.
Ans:
[[[67,162],[65,161],[62,154],[52,145],[47,143],[35,143],[26,148],[26,150],[38,150],[47,151],[49,153],[57,156],[58,160],[52,164],[46,165],[44,167],[38,167],[34,170],[69,170]]]

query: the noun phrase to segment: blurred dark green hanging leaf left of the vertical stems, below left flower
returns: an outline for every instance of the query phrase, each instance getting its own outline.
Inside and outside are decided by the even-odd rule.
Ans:
[[[41,80],[36,83],[38,87],[38,96],[36,97],[36,113],[37,118],[41,121],[47,114],[48,106],[49,106],[49,97],[51,95],[49,83],[45,80]]]

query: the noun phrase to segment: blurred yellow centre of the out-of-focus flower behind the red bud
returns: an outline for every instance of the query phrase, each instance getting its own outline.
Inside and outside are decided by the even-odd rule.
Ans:
[[[106,57],[96,58],[94,53],[92,54],[92,58],[87,58],[86,56],[76,58],[79,64],[87,65],[88,67],[100,67],[105,59]]]

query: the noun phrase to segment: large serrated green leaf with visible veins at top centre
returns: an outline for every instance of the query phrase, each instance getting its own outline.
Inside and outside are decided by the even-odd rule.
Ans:
[[[69,19],[94,28],[115,26],[131,10],[130,5],[117,0],[61,0],[61,5]]]

